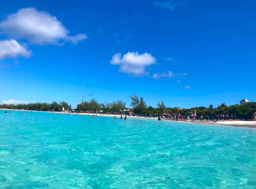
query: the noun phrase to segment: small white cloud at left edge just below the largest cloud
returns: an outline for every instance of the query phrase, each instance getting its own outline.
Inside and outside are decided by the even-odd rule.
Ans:
[[[0,40],[0,59],[5,57],[15,58],[17,56],[30,57],[32,52],[19,44],[14,39]]]

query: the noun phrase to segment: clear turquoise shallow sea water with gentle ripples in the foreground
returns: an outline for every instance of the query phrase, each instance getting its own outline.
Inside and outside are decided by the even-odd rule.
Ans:
[[[0,188],[256,188],[256,130],[0,110]]]

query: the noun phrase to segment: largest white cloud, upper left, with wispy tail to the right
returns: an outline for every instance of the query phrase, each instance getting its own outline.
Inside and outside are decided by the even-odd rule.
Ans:
[[[77,43],[87,38],[85,34],[69,36],[69,31],[55,17],[45,11],[22,8],[0,23],[3,34],[14,39],[26,39],[33,44]]]

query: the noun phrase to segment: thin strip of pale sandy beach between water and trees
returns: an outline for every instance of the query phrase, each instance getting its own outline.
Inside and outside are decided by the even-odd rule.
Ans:
[[[59,111],[36,111],[36,110],[13,110],[13,109],[0,109],[0,110],[10,110],[10,111],[33,111],[33,112],[48,112],[48,113],[58,113],[58,114],[71,114],[69,112],[59,112]],[[96,115],[93,113],[73,113],[75,115]],[[97,114],[97,116],[108,116],[108,117],[114,117],[114,114]],[[116,115],[116,117],[121,117],[121,115]],[[150,118],[150,117],[137,117],[137,116],[128,116],[128,118],[138,118],[138,119],[153,119],[157,120],[158,118]],[[157,120],[158,121],[158,120]],[[161,121],[172,121],[173,120],[167,120],[167,119],[161,119]],[[207,122],[207,121],[178,121],[182,123],[194,123],[194,124],[206,124],[206,125],[218,125],[218,126],[233,126],[233,127],[244,127],[249,129],[256,129],[256,121],[219,121],[219,122]]]

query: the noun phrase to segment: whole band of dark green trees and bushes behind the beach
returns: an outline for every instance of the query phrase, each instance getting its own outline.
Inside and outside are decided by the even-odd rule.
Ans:
[[[180,107],[166,107],[165,103],[157,102],[157,107],[147,106],[143,97],[138,97],[136,94],[130,96],[132,107],[135,114],[180,114],[189,115],[191,114],[190,109],[181,109]],[[71,110],[71,105],[67,102],[52,102],[52,103],[29,103],[29,104],[18,104],[18,105],[0,105],[3,109],[24,109],[24,110],[38,110],[38,111],[61,111],[62,107],[65,110]],[[121,113],[120,110],[127,109],[126,103],[122,100],[103,102],[99,103],[96,99],[91,99],[90,101],[84,101],[77,105],[76,111],[90,111],[98,112],[101,110],[103,113]],[[200,106],[194,107],[197,115],[209,115],[214,116],[215,114],[225,114],[225,115],[235,115],[237,117],[251,118],[252,114],[256,112],[256,102],[248,102],[244,105],[230,105],[227,106],[225,103],[221,103],[218,107],[213,107],[209,105],[208,107]]]

